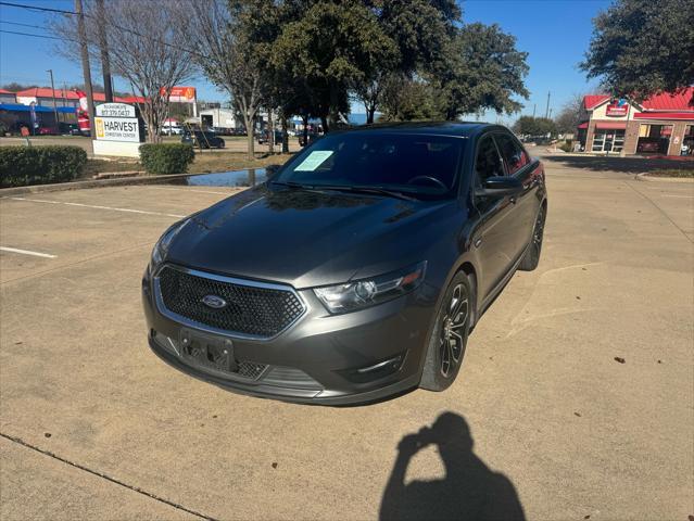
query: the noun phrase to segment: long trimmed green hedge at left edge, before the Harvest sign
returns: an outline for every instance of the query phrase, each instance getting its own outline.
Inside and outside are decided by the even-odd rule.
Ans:
[[[86,164],[79,147],[0,147],[0,188],[70,181]]]

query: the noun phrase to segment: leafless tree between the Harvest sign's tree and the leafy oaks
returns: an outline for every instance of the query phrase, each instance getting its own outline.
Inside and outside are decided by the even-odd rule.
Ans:
[[[229,5],[232,4],[234,12]],[[188,0],[192,15],[187,21],[187,40],[193,46],[193,60],[204,75],[226,90],[243,116],[248,132],[248,157],[254,157],[253,128],[263,103],[264,77],[257,53],[242,30],[242,2]]]

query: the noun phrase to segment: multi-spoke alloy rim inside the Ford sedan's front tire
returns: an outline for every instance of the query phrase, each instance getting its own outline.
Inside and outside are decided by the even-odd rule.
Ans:
[[[469,313],[469,300],[464,284],[457,284],[453,289],[451,302],[446,307],[441,325],[439,348],[441,350],[441,374],[447,378],[455,366],[460,363],[465,336],[467,334],[467,317]]]

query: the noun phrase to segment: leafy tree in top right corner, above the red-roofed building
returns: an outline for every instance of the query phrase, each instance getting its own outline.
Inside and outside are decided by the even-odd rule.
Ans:
[[[590,78],[602,78],[615,96],[642,100],[694,84],[691,0],[617,0],[595,17],[593,27],[580,66]]]

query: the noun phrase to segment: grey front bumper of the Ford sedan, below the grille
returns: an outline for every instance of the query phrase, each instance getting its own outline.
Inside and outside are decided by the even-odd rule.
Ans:
[[[161,313],[148,274],[142,303],[152,351],[173,367],[242,394],[324,405],[362,404],[415,387],[421,376],[434,292],[415,292],[358,312],[330,315],[313,294],[299,291],[307,312],[268,340],[217,334],[232,344],[252,378],[214,370],[181,356],[181,334],[195,326]],[[161,304],[160,304],[161,305]],[[201,333],[204,327],[201,326]],[[209,332],[204,333],[210,335]]]

